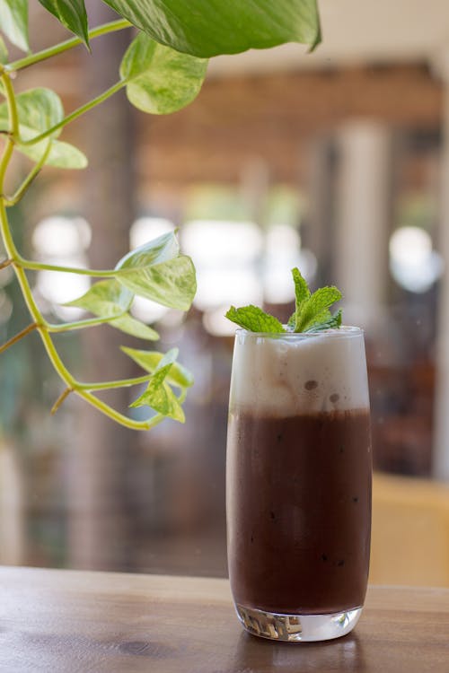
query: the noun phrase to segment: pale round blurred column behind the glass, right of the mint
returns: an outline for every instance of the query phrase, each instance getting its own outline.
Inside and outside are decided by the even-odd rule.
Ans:
[[[388,289],[392,135],[374,121],[339,131],[335,282],[344,295],[345,321],[370,328]]]

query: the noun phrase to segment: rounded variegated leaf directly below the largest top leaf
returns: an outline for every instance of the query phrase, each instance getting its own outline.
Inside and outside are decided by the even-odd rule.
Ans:
[[[123,57],[120,76],[136,108],[165,115],[197,97],[206,70],[207,60],[163,47],[141,32]]]

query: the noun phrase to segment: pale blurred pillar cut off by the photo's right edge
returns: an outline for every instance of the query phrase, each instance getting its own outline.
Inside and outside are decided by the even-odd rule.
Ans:
[[[449,481],[449,51],[437,64],[444,87],[441,152],[441,197],[439,251],[445,260],[445,274],[438,293],[436,331],[436,398],[432,471]]]

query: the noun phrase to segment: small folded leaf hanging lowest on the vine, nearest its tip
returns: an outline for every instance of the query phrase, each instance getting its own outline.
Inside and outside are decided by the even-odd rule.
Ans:
[[[185,415],[182,406],[180,406],[180,401],[165,381],[172,370],[177,355],[177,348],[172,348],[171,351],[163,355],[154,370],[147,389],[130,406],[151,406],[159,414],[170,416],[175,421],[184,423]]]

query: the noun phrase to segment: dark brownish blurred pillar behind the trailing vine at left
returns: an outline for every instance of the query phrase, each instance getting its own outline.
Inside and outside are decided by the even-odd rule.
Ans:
[[[92,25],[110,20],[106,5],[91,2]],[[119,31],[92,40],[92,57],[84,57],[86,100],[119,78],[119,62],[131,36]],[[92,225],[89,251],[93,268],[112,268],[129,249],[134,204],[134,127],[124,92],[84,118],[89,168],[84,183],[84,214]],[[83,333],[84,380],[132,376],[134,369],[119,351],[127,338],[102,326]],[[110,391],[106,401],[127,411],[128,389]],[[133,545],[127,507],[128,447],[136,433],[127,431],[91,406],[79,408],[70,470],[69,564],[92,570],[132,567]]]

